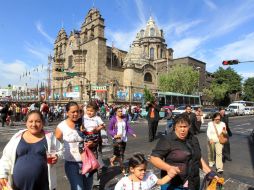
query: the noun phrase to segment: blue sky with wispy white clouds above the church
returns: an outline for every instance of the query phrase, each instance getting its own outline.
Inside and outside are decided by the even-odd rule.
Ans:
[[[254,0],[0,0],[0,5],[1,87],[45,81],[58,31],[63,26],[69,35],[80,29],[93,5],[105,19],[110,46],[128,51],[151,15],[174,58],[194,57],[209,72],[222,60],[254,60]],[[254,77],[254,63],[233,68],[245,79]]]

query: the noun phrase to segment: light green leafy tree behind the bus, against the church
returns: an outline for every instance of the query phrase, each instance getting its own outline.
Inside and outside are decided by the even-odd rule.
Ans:
[[[193,94],[198,91],[199,71],[192,66],[175,65],[159,76],[159,89],[164,92]]]

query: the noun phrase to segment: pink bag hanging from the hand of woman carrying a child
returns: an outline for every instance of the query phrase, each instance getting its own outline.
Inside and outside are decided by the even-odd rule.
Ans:
[[[83,153],[81,154],[82,159],[82,174],[87,174],[93,170],[100,167],[98,160],[96,159],[94,153],[85,146]]]

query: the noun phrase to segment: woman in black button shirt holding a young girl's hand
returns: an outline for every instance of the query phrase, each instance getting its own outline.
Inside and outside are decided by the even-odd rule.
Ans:
[[[190,119],[179,115],[174,120],[174,130],[163,136],[151,154],[151,163],[166,175],[175,170],[175,177],[167,186],[168,190],[198,190],[200,186],[199,168],[211,172],[201,157],[198,139],[189,133]]]

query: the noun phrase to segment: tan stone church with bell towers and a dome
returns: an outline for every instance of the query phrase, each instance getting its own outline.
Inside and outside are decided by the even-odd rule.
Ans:
[[[191,57],[174,59],[163,30],[152,18],[137,33],[128,52],[107,46],[104,28],[100,12],[92,8],[80,31],[72,31],[69,36],[63,28],[59,31],[52,66],[54,100],[88,101],[87,91],[91,90],[92,98],[109,103],[141,103],[144,87],[156,92],[158,75],[174,64],[197,68],[199,91],[205,86],[206,64]]]

